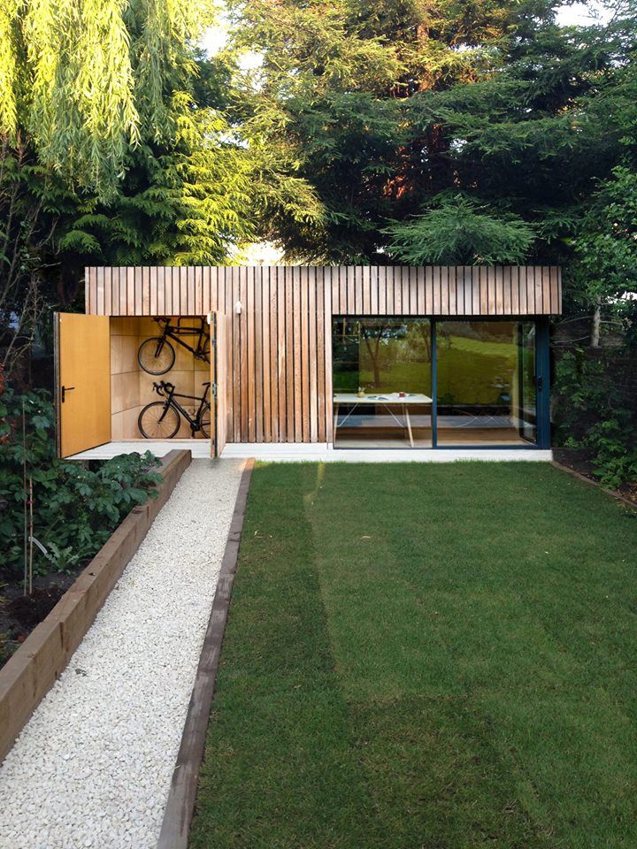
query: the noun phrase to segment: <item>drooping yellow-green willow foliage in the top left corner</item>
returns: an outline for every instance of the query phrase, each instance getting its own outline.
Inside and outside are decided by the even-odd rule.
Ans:
[[[42,164],[112,196],[140,142],[168,140],[166,94],[188,88],[189,42],[211,0],[8,0],[0,9],[0,130]]]

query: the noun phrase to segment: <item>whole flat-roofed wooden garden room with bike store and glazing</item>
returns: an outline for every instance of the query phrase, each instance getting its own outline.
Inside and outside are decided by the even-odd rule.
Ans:
[[[59,450],[546,451],[560,312],[555,266],[90,267]]]

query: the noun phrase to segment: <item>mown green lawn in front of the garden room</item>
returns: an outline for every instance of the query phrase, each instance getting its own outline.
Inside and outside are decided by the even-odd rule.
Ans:
[[[542,463],[257,466],[191,849],[634,849],[636,547]]]

